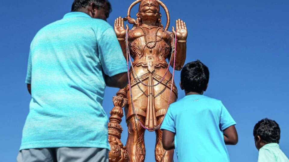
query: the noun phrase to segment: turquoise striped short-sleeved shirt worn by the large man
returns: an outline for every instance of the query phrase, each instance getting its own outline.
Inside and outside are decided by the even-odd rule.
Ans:
[[[82,12],[42,28],[30,46],[26,83],[32,100],[21,149],[110,149],[103,110],[104,74],[127,71],[113,28]]]

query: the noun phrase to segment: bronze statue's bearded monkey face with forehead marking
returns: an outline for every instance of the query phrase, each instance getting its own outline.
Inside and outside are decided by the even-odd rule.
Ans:
[[[156,21],[160,18],[160,4],[156,0],[142,0],[138,12],[141,20]]]

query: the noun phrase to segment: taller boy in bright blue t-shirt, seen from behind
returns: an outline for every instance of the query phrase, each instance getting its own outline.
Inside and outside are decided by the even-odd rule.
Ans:
[[[229,162],[227,145],[236,145],[236,122],[221,101],[204,96],[209,70],[199,60],[183,67],[186,96],[169,106],[161,130],[163,148],[175,149],[179,162]]]

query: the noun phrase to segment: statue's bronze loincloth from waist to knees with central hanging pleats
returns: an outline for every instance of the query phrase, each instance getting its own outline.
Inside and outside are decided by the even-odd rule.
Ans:
[[[147,128],[154,128],[158,125],[157,117],[163,116],[166,113],[166,108],[169,102],[170,88],[172,85],[172,74],[168,71],[165,79],[162,80],[165,75],[168,64],[163,61],[134,61],[132,66],[135,68],[137,76],[130,70],[130,84],[132,87],[132,97],[134,102],[135,113],[145,117],[144,125]],[[147,71],[147,72],[146,72]],[[161,81],[162,80],[162,81]],[[156,86],[157,82],[160,84]],[[172,96],[170,103],[176,101],[178,91],[176,85],[172,86]],[[128,105],[126,119],[134,115],[132,111],[132,103],[130,98],[130,92],[127,94]]]

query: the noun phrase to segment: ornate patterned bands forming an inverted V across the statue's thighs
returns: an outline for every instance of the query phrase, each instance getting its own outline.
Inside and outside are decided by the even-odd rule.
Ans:
[[[150,76],[150,72],[148,73],[145,73],[141,76],[138,76],[138,78],[141,80],[141,81],[144,81],[145,79],[148,79]],[[157,80],[157,81],[160,81],[163,77],[157,75],[156,73],[152,73],[152,77]],[[140,81],[138,78],[135,78],[135,79],[131,79],[130,80],[130,84],[131,84],[131,87],[133,87],[134,85],[138,84]],[[171,88],[172,86],[172,91],[175,93],[176,96],[178,96],[178,89],[176,87],[175,84],[172,85],[172,82],[166,80],[166,79],[163,79],[163,81],[161,82],[163,85],[165,85],[167,88]]]

